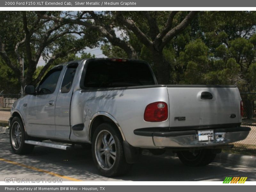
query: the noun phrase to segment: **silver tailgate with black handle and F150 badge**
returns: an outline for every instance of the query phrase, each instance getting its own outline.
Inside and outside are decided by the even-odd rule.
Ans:
[[[240,94],[234,86],[167,85],[171,130],[238,124]]]

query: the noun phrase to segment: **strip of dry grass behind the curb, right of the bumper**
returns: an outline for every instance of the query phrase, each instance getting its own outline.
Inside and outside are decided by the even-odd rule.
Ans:
[[[222,152],[256,156],[256,145],[244,145],[244,144],[234,143],[233,148],[222,149]]]

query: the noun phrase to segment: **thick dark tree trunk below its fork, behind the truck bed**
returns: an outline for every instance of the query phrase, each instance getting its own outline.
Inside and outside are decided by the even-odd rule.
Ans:
[[[158,84],[171,84],[171,66],[164,59],[164,55],[158,52],[153,53],[153,62]]]

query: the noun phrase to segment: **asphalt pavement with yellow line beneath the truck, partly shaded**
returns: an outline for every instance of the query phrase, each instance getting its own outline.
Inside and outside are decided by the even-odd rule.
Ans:
[[[150,153],[144,153],[125,176],[106,178],[98,174],[91,150],[79,145],[73,151],[37,146],[32,154],[19,156],[11,151],[9,135],[0,133],[0,148],[0,181],[6,177],[62,181],[223,181],[227,176],[256,181],[256,170],[252,167],[219,162],[188,167],[178,157]]]

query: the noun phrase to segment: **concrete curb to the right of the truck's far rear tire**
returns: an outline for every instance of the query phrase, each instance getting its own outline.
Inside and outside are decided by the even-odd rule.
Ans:
[[[215,162],[256,167],[256,156],[220,153],[217,154]]]

